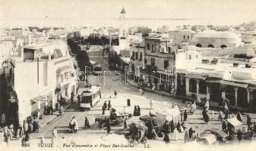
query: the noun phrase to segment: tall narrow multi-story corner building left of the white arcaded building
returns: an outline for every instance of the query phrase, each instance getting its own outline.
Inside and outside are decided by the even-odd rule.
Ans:
[[[170,39],[160,35],[145,38],[145,70],[149,73],[149,85],[153,89],[170,92],[174,86],[173,72],[175,70],[175,52],[177,48],[171,45]]]

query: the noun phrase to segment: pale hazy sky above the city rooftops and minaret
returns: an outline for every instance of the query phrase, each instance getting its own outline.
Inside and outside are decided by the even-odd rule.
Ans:
[[[204,20],[198,24],[239,24],[256,20],[255,0],[0,0],[0,24],[115,23],[112,20],[119,17],[122,8],[133,20]]]

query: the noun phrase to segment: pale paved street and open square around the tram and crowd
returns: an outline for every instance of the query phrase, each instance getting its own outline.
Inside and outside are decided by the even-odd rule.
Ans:
[[[90,51],[89,56],[90,60],[94,60],[99,62],[103,66],[103,70],[108,71],[108,63],[106,60],[103,59],[101,51]],[[96,79],[96,77],[90,77]],[[48,125],[44,126],[40,133],[31,134],[31,137],[33,138],[40,138],[42,136],[47,138],[52,137],[52,130],[53,128],[58,128],[58,138],[63,138],[62,140],[69,141],[69,140],[79,140],[79,138],[83,137],[83,141],[91,141],[92,138],[94,139],[102,139],[103,137],[106,137],[106,130],[105,129],[99,129],[97,128],[95,121],[95,116],[102,115],[102,106],[104,103],[104,100],[109,100],[109,96],[111,96],[111,102],[112,107],[117,109],[117,111],[122,112],[124,109],[124,106],[126,106],[126,100],[129,97],[131,99],[131,108],[127,109],[128,112],[133,112],[134,105],[141,106],[141,115],[146,115],[150,111],[150,99],[153,100],[154,108],[161,108],[163,106],[168,107],[172,106],[172,103],[178,103],[179,106],[182,106],[186,108],[186,104],[179,99],[175,99],[172,97],[166,97],[160,94],[155,94],[151,92],[145,92],[143,96],[140,95],[137,88],[134,88],[131,85],[125,85],[124,82],[122,82],[122,85],[115,85],[112,83],[113,81],[112,75],[106,75],[105,77],[100,76],[99,81],[100,86],[102,88],[103,97],[100,100],[99,103],[96,104],[90,111],[79,111],[77,103],[74,103],[70,108],[68,108],[65,113],[62,116],[58,116],[55,119],[52,120]],[[114,80],[116,82],[116,80]],[[97,83],[93,83],[93,85],[96,85]],[[117,91],[118,95],[117,98],[114,98],[113,92]],[[185,126],[187,128],[193,127],[194,130],[198,133],[204,131],[205,129],[210,128],[221,128],[221,123],[217,121],[217,117],[219,116],[219,113],[215,111],[215,117],[214,119],[210,119],[210,122],[208,125],[204,124],[204,120],[202,118],[201,109],[198,109],[196,112],[194,112],[194,115],[188,115],[188,122],[185,123]],[[106,115],[108,115],[109,112],[106,111]],[[71,134],[68,131],[68,123],[71,120],[72,117],[75,117],[77,119],[77,122],[79,123],[79,131],[77,134]],[[84,129],[84,116],[87,116],[87,118],[90,121],[90,125],[92,125],[92,128],[90,129]],[[211,117],[211,114],[209,114]],[[233,115],[235,116],[235,114]],[[252,121],[255,121],[254,115],[252,116]],[[46,118],[46,116],[45,116]],[[137,120],[135,118],[132,118],[131,121]],[[246,118],[244,116],[244,121],[246,122]],[[122,126],[120,127],[113,127],[112,133],[115,131],[122,130]],[[172,138],[172,136],[171,136]],[[183,143],[184,134],[179,134],[179,143]],[[161,138],[163,139],[163,138]],[[39,140],[37,140],[39,141]],[[50,141],[49,139],[47,141]],[[161,140],[162,141],[162,140]],[[150,142],[153,142],[153,140],[150,140]],[[176,141],[172,141],[172,143],[177,143]]]

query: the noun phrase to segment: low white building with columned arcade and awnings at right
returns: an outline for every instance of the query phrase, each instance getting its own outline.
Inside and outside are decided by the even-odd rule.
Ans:
[[[199,48],[177,54],[177,94],[194,95],[198,102],[209,99],[211,103],[222,104],[228,99],[234,107],[255,106],[256,70],[250,61],[210,53],[207,55],[204,48]]]

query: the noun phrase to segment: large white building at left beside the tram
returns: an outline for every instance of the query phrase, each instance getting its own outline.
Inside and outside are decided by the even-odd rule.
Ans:
[[[77,75],[65,42],[22,46],[18,57],[5,63],[4,72],[20,124],[36,110],[55,108],[58,100],[76,93]]]

